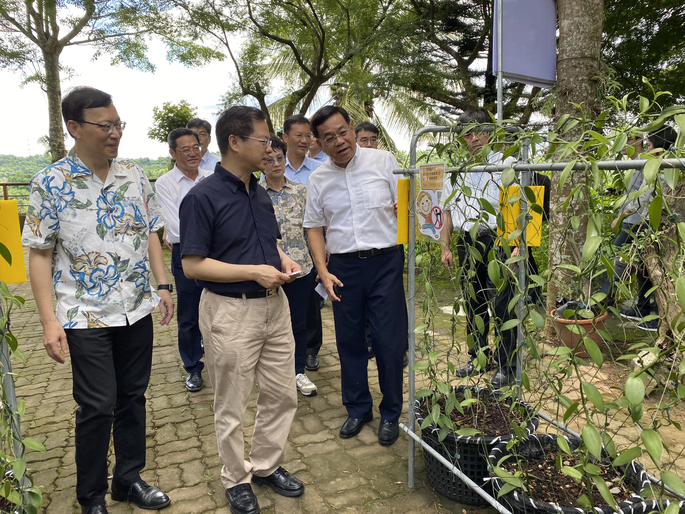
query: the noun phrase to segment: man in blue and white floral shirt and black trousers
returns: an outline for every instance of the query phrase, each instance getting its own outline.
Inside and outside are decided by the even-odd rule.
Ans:
[[[103,514],[114,424],[112,500],[142,509],[171,503],[140,479],[145,467],[145,391],[152,316],[173,316],[162,247],[166,222],[145,173],[116,158],[125,123],[112,97],[73,88],[62,114],[75,145],[31,181],[23,244],[47,354],[71,354],[76,410],[76,495],[84,514]],[[150,272],[159,295],[150,284]],[[57,307],[53,312],[53,291]],[[62,353],[60,353],[60,349]]]

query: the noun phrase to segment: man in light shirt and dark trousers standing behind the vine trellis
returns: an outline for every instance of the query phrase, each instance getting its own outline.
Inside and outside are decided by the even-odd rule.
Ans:
[[[459,123],[490,123],[488,114],[482,110],[473,109],[463,112],[459,117]],[[488,142],[488,132],[477,132],[472,130],[464,136],[469,145],[469,154],[474,156],[483,145]],[[502,164],[501,155],[490,152],[486,159],[490,164]],[[513,158],[507,158],[503,164],[513,163]],[[495,352],[495,361],[498,369],[491,378],[493,387],[503,387],[514,378],[511,358],[514,356],[514,343],[516,333],[514,330],[499,330],[499,327],[512,319],[515,313],[508,310],[508,304],[512,297],[512,287],[508,285],[504,291],[497,294],[497,287],[490,281],[488,275],[488,254],[495,245],[497,237],[497,219],[493,215],[488,215],[479,204],[479,199],[486,199],[495,212],[499,212],[499,191],[501,186],[501,173],[460,173],[457,175],[456,182],[452,185],[451,177],[445,178],[445,188],[443,198],[449,199],[452,192],[455,195],[445,204],[445,210],[451,216],[445,217],[443,226],[443,265],[446,269],[454,266],[454,258],[451,248],[445,241],[451,241],[452,232],[460,232],[457,242],[457,254],[460,266],[464,268],[462,274],[462,291],[469,290],[469,284],[473,285],[475,297],[464,294],[466,304],[466,338],[469,345],[469,362],[463,367],[455,370],[457,376],[469,376],[476,371],[482,372],[483,369],[475,369],[474,360],[479,350],[488,355],[488,334],[490,332],[490,314],[488,307],[495,314],[493,320],[499,342]],[[470,194],[467,195],[470,190]],[[466,193],[464,193],[466,191]],[[477,223],[475,240],[471,238],[471,228]],[[469,247],[473,247],[482,256],[482,260],[476,260],[469,254]],[[497,249],[497,247],[495,247]],[[510,282],[511,284],[511,282]],[[477,327],[475,317],[481,317],[484,329],[481,331]]]

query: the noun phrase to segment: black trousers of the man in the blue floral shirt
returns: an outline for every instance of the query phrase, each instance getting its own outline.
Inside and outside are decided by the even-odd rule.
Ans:
[[[103,503],[114,425],[114,480],[124,487],[145,467],[145,391],[152,367],[152,315],[133,325],[66,332],[76,409],[76,497]]]

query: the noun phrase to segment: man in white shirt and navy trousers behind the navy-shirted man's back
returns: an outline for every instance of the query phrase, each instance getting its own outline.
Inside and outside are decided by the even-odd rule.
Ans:
[[[202,389],[202,334],[198,323],[198,307],[202,288],[186,278],[181,265],[178,208],[192,186],[214,173],[214,169],[199,167],[202,147],[194,130],[177,128],[169,132],[169,154],[175,164],[157,179],[155,189],[166,215],[166,241],[171,245],[171,272],[176,282],[178,308],[178,352],[186,369],[186,389],[195,393]]]

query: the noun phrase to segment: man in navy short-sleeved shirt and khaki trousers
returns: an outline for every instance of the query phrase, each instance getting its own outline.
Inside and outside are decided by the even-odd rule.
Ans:
[[[266,190],[253,172],[273,153],[262,111],[235,106],[216,122],[221,163],[179,208],[183,271],[204,288],[199,324],[214,389],[221,480],[234,514],[260,511],[250,479],[284,496],[303,483],[280,467],[297,410],[295,339],[280,286],[301,268],[280,249]],[[249,462],[242,419],[259,384]]]

